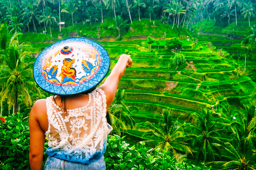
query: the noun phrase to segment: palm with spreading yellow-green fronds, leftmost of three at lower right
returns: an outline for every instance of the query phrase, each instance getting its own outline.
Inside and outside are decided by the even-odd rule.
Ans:
[[[171,151],[172,154],[177,157],[178,153],[176,148],[179,148],[187,153],[192,151],[185,141],[190,138],[189,135],[184,135],[183,125],[179,125],[178,118],[174,121],[172,120],[172,115],[168,110],[163,110],[163,117],[161,124],[158,126],[147,122],[147,127],[149,131],[143,134],[143,137],[149,138],[145,143],[158,145],[164,151]]]

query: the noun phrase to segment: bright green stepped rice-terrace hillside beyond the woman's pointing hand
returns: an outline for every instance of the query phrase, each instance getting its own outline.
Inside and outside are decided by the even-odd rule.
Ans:
[[[176,51],[183,53],[186,64],[174,68],[169,64],[174,52],[149,50],[143,41],[102,43],[110,53],[112,67],[121,53],[131,54],[133,66],[126,69],[119,83],[125,89],[126,104],[137,106],[133,112],[137,124],[128,135],[141,138],[145,121],[157,123],[162,109],[172,110],[183,121],[193,122],[192,116],[209,109],[214,117],[229,123],[234,110],[249,104],[249,95],[256,87],[248,76],[238,72],[238,64],[217,55],[204,43]],[[169,65],[168,65],[169,64]]]

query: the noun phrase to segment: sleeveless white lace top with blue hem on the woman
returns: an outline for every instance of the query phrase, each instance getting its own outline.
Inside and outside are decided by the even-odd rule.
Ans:
[[[62,110],[50,96],[46,99],[49,138],[46,153],[67,161],[89,164],[100,158],[106,150],[106,138],[112,127],[106,120],[106,95],[96,88],[89,93],[88,103],[73,110]]]

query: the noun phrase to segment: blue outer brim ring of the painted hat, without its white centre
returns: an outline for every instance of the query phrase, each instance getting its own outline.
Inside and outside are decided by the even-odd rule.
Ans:
[[[50,50],[53,48],[65,44],[65,43],[72,43],[72,42],[79,42],[79,43],[86,43],[91,45],[95,50],[97,50],[100,56],[100,64],[97,68],[97,71],[91,75],[89,79],[86,79],[83,82],[75,83],[75,84],[60,84],[54,83],[49,81],[45,77],[45,74],[42,72],[42,63],[45,56],[48,54]],[[101,46],[99,43],[94,42],[92,40],[86,38],[67,38],[61,40],[59,42],[55,42],[54,44],[48,46],[44,49],[37,57],[33,67],[33,76],[35,79],[36,84],[42,88],[44,91],[54,94],[54,95],[74,95],[79,93],[86,93],[92,91],[92,89],[96,88],[97,85],[105,78],[110,68],[110,58],[109,54],[106,49]]]

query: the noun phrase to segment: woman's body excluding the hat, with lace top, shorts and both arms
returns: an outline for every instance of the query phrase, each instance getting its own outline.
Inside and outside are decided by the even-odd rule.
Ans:
[[[42,169],[45,136],[49,138],[45,170],[106,169],[103,154],[106,135],[112,130],[106,111],[125,68],[131,66],[130,55],[122,54],[105,82],[91,93],[35,102],[29,116],[31,170]]]

